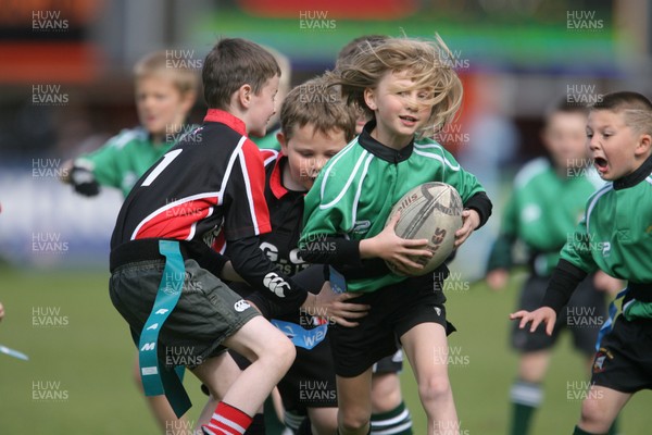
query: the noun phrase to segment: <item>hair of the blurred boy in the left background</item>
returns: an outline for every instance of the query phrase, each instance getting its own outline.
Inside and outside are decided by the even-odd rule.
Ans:
[[[197,94],[198,91],[198,72],[187,66],[171,65],[165,50],[146,54],[134,65],[134,78],[137,80],[156,75],[168,76],[181,94],[188,91]]]

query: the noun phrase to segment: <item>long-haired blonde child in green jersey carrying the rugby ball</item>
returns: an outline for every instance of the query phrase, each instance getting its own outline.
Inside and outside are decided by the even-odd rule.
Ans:
[[[397,338],[418,383],[428,434],[459,432],[446,363],[451,328],[440,291],[448,270],[441,265],[434,283],[393,274],[384,261],[418,268],[408,256],[429,256],[427,240],[396,235],[397,216],[385,227],[392,206],[415,186],[437,181],[457,189],[466,210],[456,246],[490,214],[491,202],[472,174],[439,144],[414,141],[442,128],[460,107],[462,84],[443,61],[448,52],[439,38],[389,38],[331,74],[343,97],[373,117],[319,173],[305,197],[301,235],[302,257],[335,266],[347,291],[361,295],[355,302],[371,306],[358,326],[328,332],[341,435],[369,433],[372,365],[396,352]]]

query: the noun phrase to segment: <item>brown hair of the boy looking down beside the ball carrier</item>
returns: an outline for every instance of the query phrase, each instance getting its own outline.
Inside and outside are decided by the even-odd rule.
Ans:
[[[290,90],[280,107],[280,129],[287,139],[308,124],[324,134],[342,130],[347,141],[355,137],[355,109],[342,100],[338,86],[328,85],[319,76]]]

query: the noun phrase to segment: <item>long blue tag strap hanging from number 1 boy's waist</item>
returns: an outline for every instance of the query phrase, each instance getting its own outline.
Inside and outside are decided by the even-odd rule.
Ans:
[[[192,406],[184,388],[184,366],[177,366],[174,371],[166,370],[159,364],[158,344],[159,332],[167,320],[167,316],[176,307],[186,275],[184,257],[176,240],[159,240],[159,252],[165,257],[165,268],[159,291],[154,300],[154,307],[150,313],[138,344],[138,362],[140,364],[140,378],[146,396],[165,395],[174,413],[181,417]]]

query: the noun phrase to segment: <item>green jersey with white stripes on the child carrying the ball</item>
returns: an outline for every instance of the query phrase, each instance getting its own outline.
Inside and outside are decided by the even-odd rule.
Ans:
[[[384,146],[374,138],[374,122],[330,159],[305,196],[300,247],[311,250],[326,237],[362,240],[379,234],[391,208],[410,189],[428,182],[455,187],[467,208],[468,200],[485,189],[464,171],[451,153],[434,140],[411,142],[401,150]],[[473,201],[472,201],[473,202]],[[479,207],[480,225],[490,214]],[[404,281],[386,271],[373,277],[347,278],[349,291],[374,291]]]

